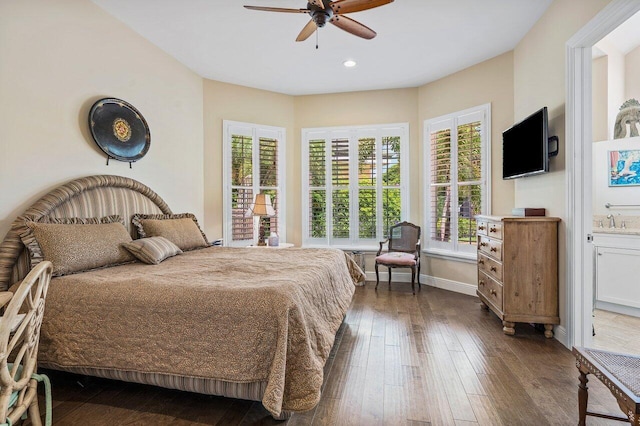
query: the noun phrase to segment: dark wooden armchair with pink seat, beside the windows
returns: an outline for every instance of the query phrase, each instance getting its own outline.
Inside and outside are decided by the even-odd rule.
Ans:
[[[411,290],[416,294],[414,284],[416,272],[420,290],[420,233],[420,227],[409,222],[396,223],[389,228],[389,238],[380,241],[380,248],[376,254],[376,289],[380,283],[378,266],[382,265],[389,270],[389,288],[391,288],[391,269],[411,268]],[[385,244],[388,246],[388,251],[382,254]]]

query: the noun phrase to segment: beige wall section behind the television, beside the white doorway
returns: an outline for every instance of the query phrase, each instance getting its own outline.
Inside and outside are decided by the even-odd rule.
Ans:
[[[566,325],[566,42],[609,0],[556,0],[514,49],[514,119],[549,108],[550,134],[560,138],[551,173],[516,180],[515,205],[544,207],[563,219],[559,233],[560,318]]]

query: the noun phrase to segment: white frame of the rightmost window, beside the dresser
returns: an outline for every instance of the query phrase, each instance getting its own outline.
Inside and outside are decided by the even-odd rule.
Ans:
[[[476,119],[476,118],[479,118]],[[461,245],[458,243],[458,209],[452,209],[451,223],[455,227],[452,232],[451,242],[434,241],[431,239],[431,227],[433,226],[433,209],[432,209],[432,188],[431,181],[431,134],[433,132],[451,129],[451,176],[450,182],[454,188],[452,199],[458,199],[458,126],[473,121],[481,121],[481,178],[479,181],[481,191],[481,214],[491,214],[491,104],[486,103],[462,111],[456,111],[439,117],[431,118],[424,121],[423,126],[423,201],[424,201],[424,217],[423,217],[423,236],[422,247],[423,252],[434,257],[445,259],[454,258],[458,260],[466,260],[475,262],[477,259],[477,247],[474,244]],[[455,138],[454,138],[455,130]],[[455,139],[455,140],[454,140]],[[454,161],[455,160],[455,161]],[[453,184],[455,182],[455,184]]]

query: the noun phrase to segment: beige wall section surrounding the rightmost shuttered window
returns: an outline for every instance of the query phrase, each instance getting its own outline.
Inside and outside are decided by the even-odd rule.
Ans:
[[[424,120],[486,103],[491,104],[491,212],[496,215],[510,214],[514,207],[513,181],[502,179],[502,131],[513,124],[512,52],[420,87],[420,141],[424,137]],[[420,158],[422,155],[421,149]],[[423,273],[476,285],[475,263],[434,258],[426,260],[427,267],[423,268]]]

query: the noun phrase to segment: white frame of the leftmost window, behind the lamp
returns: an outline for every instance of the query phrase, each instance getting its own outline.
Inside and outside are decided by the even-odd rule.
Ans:
[[[269,190],[275,190],[278,192],[278,236],[280,241],[287,241],[286,231],[286,129],[284,127],[268,126],[262,124],[245,123],[240,121],[223,120],[222,122],[222,204],[223,204],[223,239],[224,245],[230,247],[245,247],[247,245],[254,244],[258,239],[259,226],[257,221],[259,219],[254,218],[253,226],[253,238],[251,240],[237,240],[233,241],[233,217],[232,217],[232,181],[231,181],[231,165],[232,165],[232,149],[231,141],[233,135],[242,135],[251,137],[252,143],[252,176],[257,178],[252,179],[252,193],[255,199],[255,194],[261,190],[260,185],[260,138],[276,139],[278,141],[278,184],[266,187]],[[264,189],[264,188],[262,188]],[[251,200],[253,203],[253,200]],[[268,237],[268,235],[266,236]]]

